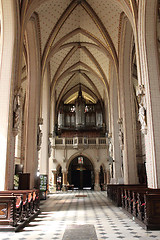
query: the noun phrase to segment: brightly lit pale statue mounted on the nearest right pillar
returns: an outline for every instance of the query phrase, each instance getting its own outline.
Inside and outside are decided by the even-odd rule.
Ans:
[[[147,134],[146,99],[144,85],[139,85],[137,95],[139,101],[138,120],[141,123],[142,133]]]

